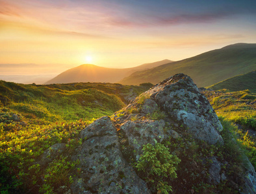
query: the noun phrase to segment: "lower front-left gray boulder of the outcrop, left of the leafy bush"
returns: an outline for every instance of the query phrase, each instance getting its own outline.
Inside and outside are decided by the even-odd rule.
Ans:
[[[73,193],[150,193],[123,158],[116,127],[108,116],[81,131],[81,138],[85,137],[72,157],[80,160],[81,169],[71,185]]]

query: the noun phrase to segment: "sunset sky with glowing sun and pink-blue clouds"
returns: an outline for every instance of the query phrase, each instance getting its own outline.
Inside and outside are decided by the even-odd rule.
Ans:
[[[0,0],[0,75],[125,68],[256,43],[255,0]]]

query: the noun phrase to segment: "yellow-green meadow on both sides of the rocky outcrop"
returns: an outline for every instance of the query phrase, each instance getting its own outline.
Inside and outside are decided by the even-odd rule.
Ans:
[[[70,160],[70,153],[82,144],[78,135],[88,124],[101,116],[111,116],[129,103],[127,96],[147,91],[152,85],[127,86],[110,83],[70,83],[53,85],[23,85],[0,81],[0,191],[1,193],[64,193],[73,182],[71,171],[79,173],[79,161]],[[256,94],[246,91],[202,91],[224,125],[225,147],[223,157],[236,161],[237,169],[245,153],[256,167]],[[235,138],[237,144],[232,143]],[[185,161],[198,160],[203,149],[188,138],[175,140],[170,149],[185,147],[181,169],[185,173]],[[66,153],[49,164],[40,166],[36,161],[46,149],[57,143],[66,144]],[[166,143],[168,144],[168,142]],[[184,146],[185,145],[185,146]],[[200,152],[199,152],[200,149]],[[220,149],[220,148],[219,148]],[[227,154],[228,153],[228,154]],[[227,160],[227,159],[226,159]],[[240,162],[240,163],[239,163]],[[183,170],[184,168],[184,170]],[[233,169],[237,176],[237,169]],[[196,172],[189,172],[194,180],[187,185],[195,191],[210,191],[199,182]],[[183,176],[178,174],[179,176]],[[60,186],[66,188],[60,190]],[[176,182],[174,189],[181,186]],[[223,186],[224,187],[224,186]],[[58,189],[57,189],[58,188]],[[220,191],[224,191],[220,188]],[[229,191],[231,192],[231,191]],[[228,193],[228,192],[227,192]]]

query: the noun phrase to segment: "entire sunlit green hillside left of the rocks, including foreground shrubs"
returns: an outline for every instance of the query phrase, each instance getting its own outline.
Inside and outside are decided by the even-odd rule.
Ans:
[[[71,179],[66,173],[73,164],[63,157],[55,161],[61,168],[44,168],[34,164],[36,157],[57,143],[65,143],[68,151],[73,151],[81,144],[78,135],[86,125],[122,109],[127,103],[125,96],[149,87],[147,83],[23,85],[0,81],[1,193],[44,193],[47,188],[38,185],[47,187],[58,181],[68,185]],[[47,179],[49,176],[52,179]]]

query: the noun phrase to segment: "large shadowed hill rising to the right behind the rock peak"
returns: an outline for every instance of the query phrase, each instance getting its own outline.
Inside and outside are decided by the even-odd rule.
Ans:
[[[119,83],[127,85],[138,85],[143,82],[157,83],[182,72],[190,76],[198,87],[207,87],[255,69],[256,44],[240,43],[153,69],[134,72]]]

